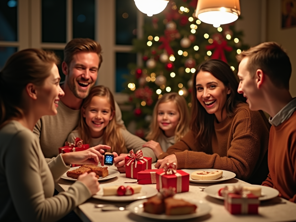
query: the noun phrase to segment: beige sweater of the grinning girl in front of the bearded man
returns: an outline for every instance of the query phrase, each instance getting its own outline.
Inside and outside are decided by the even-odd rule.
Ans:
[[[152,163],[154,163],[156,161],[156,156],[153,152],[152,149],[148,148],[148,147],[142,147],[142,145],[144,143],[146,143],[146,141],[142,140],[140,137],[133,135],[132,133],[130,133],[128,130],[126,129],[121,129],[121,133],[124,139],[124,143],[126,145],[127,148],[127,152],[129,152],[131,149],[133,149],[133,151],[136,153],[136,151],[138,151],[139,149],[142,150],[144,157],[151,157],[152,158]],[[79,137],[79,133],[78,130],[73,130],[69,136],[67,141],[69,142],[74,142],[75,138]],[[89,144],[90,147],[94,147],[96,145],[99,144],[104,144],[103,141],[103,136],[99,137],[99,138],[91,138],[91,142]],[[120,155],[120,153],[118,153],[118,155]]]

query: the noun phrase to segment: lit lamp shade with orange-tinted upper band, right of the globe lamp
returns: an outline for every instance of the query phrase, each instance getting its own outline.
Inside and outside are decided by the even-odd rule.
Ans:
[[[198,0],[195,16],[219,27],[234,22],[240,15],[239,0]]]

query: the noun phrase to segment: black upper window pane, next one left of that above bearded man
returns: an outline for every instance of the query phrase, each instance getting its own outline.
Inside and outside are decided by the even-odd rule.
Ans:
[[[42,0],[42,42],[66,42],[66,0]]]

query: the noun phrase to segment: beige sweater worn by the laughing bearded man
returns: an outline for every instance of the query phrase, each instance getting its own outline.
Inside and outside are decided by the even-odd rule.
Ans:
[[[116,121],[123,125],[122,115],[115,102]],[[77,127],[80,110],[72,110],[59,101],[57,115],[43,116],[34,127],[33,132],[40,140],[40,147],[45,158],[56,157],[59,147],[65,146],[68,135]]]

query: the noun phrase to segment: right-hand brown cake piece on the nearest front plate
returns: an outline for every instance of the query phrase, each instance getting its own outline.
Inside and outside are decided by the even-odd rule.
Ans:
[[[185,200],[174,199],[173,197],[166,198],[165,214],[166,215],[183,215],[195,213],[196,205],[189,203]]]

